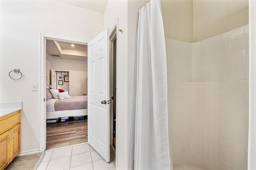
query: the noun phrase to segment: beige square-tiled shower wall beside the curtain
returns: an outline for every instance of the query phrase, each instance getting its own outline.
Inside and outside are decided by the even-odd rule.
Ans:
[[[247,169],[248,25],[196,43],[166,38],[172,159]]]

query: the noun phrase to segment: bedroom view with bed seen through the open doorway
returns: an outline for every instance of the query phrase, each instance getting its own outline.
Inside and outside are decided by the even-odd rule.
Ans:
[[[46,40],[46,150],[87,142],[87,45]]]

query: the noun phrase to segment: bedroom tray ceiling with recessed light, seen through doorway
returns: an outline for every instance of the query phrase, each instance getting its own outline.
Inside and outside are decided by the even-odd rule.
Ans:
[[[53,59],[87,61],[87,45],[46,40],[46,53]]]

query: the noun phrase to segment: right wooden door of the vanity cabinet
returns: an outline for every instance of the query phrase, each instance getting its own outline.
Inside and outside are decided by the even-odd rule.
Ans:
[[[10,130],[12,140],[10,142],[10,160],[13,160],[20,153],[20,124]]]

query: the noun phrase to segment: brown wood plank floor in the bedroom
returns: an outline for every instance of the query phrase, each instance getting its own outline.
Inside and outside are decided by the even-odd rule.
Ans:
[[[87,142],[87,119],[46,124],[46,150]]]

